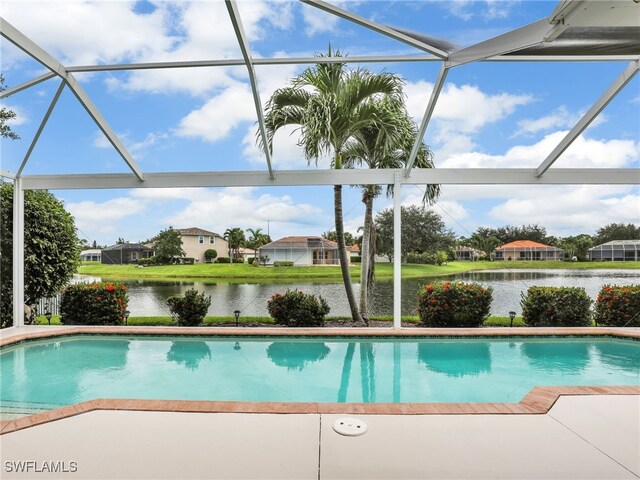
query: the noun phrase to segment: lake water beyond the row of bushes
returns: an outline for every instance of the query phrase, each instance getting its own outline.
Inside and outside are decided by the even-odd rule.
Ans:
[[[87,277],[88,278],[88,277]],[[93,280],[93,279],[92,279]],[[459,273],[441,278],[407,279],[402,282],[402,313],[415,315],[417,291],[436,280],[479,282],[493,288],[493,315],[506,316],[510,310],[520,314],[520,295],[531,286],[575,286],[595,299],[602,285],[640,285],[640,270],[491,270]],[[170,315],[166,299],[189,288],[211,295],[209,315],[231,315],[240,310],[247,316],[268,316],[267,300],[289,289],[322,295],[331,307],[330,315],[349,315],[342,283],[205,283],[184,281],[133,280],[129,286],[129,310],[133,316]],[[359,285],[354,285],[356,295]],[[371,293],[371,315],[393,313],[393,282],[376,282]]]

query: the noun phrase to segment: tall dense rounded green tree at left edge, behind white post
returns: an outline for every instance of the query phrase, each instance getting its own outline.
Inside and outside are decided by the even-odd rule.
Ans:
[[[13,185],[0,182],[0,323],[13,323]],[[24,297],[55,295],[76,272],[80,250],[73,217],[46,190],[24,192]]]

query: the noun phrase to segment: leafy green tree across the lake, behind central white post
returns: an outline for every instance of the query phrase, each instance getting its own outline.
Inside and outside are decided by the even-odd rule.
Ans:
[[[436,253],[455,245],[454,233],[447,229],[436,212],[424,206],[402,207],[402,261],[409,253]],[[393,258],[393,208],[381,211],[375,218],[378,232],[378,251]]]

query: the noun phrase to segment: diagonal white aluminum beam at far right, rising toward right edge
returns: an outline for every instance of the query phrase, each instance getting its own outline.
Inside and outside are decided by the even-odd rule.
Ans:
[[[611,86],[604,92],[589,110],[582,116],[578,123],[567,133],[560,143],[553,149],[547,158],[540,164],[536,175],[541,177],[553,165],[553,163],[569,148],[569,145],[578,138],[598,114],[609,104],[611,100],[627,85],[640,70],[640,62],[630,62],[627,68],[613,81]]]

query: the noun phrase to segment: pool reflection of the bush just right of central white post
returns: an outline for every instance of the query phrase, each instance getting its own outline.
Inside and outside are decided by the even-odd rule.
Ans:
[[[491,351],[488,343],[419,343],[418,361],[429,370],[448,377],[477,377],[491,372]]]

